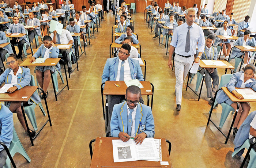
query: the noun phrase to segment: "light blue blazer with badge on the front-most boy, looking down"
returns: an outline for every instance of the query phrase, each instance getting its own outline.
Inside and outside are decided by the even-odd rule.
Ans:
[[[142,122],[144,130],[140,129],[139,122]],[[113,107],[112,117],[110,121],[111,136],[118,137],[118,134],[120,132],[127,133],[127,127],[127,103],[122,102],[120,104],[115,104]],[[147,134],[147,137],[154,137],[155,125],[151,108],[149,106],[139,103],[137,105],[135,117],[135,135],[143,132]]]

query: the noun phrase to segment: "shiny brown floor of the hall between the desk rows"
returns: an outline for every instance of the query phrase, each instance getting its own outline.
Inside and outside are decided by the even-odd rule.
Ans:
[[[135,33],[139,35],[142,46],[142,58],[147,61],[146,80],[155,87],[152,110],[155,137],[163,137],[172,142],[170,159],[173,167],[240,167],[244,157],[231,157],[233,136],[230,136],[225,145],[225,138],[214,125],[206,125],[210,105],[205,85],[198,102],[197,96],[191,90],[185,91],[184,84],[182,110],[176,112],[176,79],[174,70],[167,66],[166,50],[163,45],[158,46],[158,38],[153,38],[154,33],[151,33],[143,21],[143,14],[132,15],[132,18],[135,22]],[[55,101],[50,84],[47,101],[52,127],[49,123],[45,126],[34,140],[34,146],[31,146],[29,137],[14,114],[15,129],[31,159],[31,163],[27,163],[20,154],[15,154],[14,161],[18,167],[90,167],[89,142],[96,137],[105,136],[100,86],[102,70],[109,58],[113,25],[113,15],[105,15],[101,27],[95,32],[95,38],[91,38],[91,45],[86,47],[86,56],[80,57],[79,71],[75,70],[68,79],[69,90],[65,88],[58,96],[58,101]],[[234,62],[232,64],[234,65]],[[31,73],[35,76],[34,68],[31,68]],[[221,76],[225,72],[218,69],[218,73]],[[195,83],[196,79],[192,81],[192,87],[195,87]],[[59,87],[61,86],[63,85],[59,81]],[[251,103],[251,106],[251,111],[255,110],[255,104]],[[43,117],[38,107],[35,111],[38,127],[41,127],[47,117]],[[212,120],[218,124],[220,116],[221,106],[214,110]],[[222,128],[226,134],[231,119],[230,114]]]

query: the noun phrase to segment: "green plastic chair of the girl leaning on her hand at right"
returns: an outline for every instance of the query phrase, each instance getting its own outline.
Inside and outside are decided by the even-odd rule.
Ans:
[[[219,89],[230,81],[230,78],[232,75],[233,74],[225,74],[225,75],[221,76],[221,81],[219,83]],[[212,106],[215,107],[216,104],[217,104],[217,101],[215,100],[215,102],[212,104]],[[229,113],[230,112],[234,113],[234,111],[236,110],[233,107],[229,106],[229,104],[227,104],[225,102],[221,103],[221,107],[222,107],[222,112],[221,112],[221,119],[219,122],[219,128],[222,128],[227,117],[229,116]],[[209,114],[210,114],[210,111],[209,111]]]

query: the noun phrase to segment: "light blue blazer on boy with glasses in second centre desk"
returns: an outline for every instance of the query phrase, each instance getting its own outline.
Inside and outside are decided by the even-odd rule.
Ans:
[[[139,61],[131,59],[129,57],[127,59],[130,66],[132,79],[138,79],[139,81],[144,81]],[[101,76],[101,79],[102,79],[101,83],[104,83],[107,80],[116,81],[118,64],[119,64],[118,57],[108,58]]]

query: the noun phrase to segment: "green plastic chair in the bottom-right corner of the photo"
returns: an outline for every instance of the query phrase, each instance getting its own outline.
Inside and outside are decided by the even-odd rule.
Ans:
[[[235,157],[236,156],[236,154],[240,151],[240,150],[242,150],[242,149],[244,149],[244,148],[246,148],[247,150],[249,149],[249,147],[250,147],[250,141],[249,141],[249,139],[247,139],[245,142],[244,142],[244,144],[242,144],[242,146],[240,147],[240,148],[236,148],[236,150],[232,153],[232,157]],[[250,160],[249,160],[249,163],[248,163],[248,166],[247,166],[247,168],[255,168],[255,163],[256,163],[256,152],[255,152],[255,150],[252,148],[251,149],[251,151],[250,151]]]

